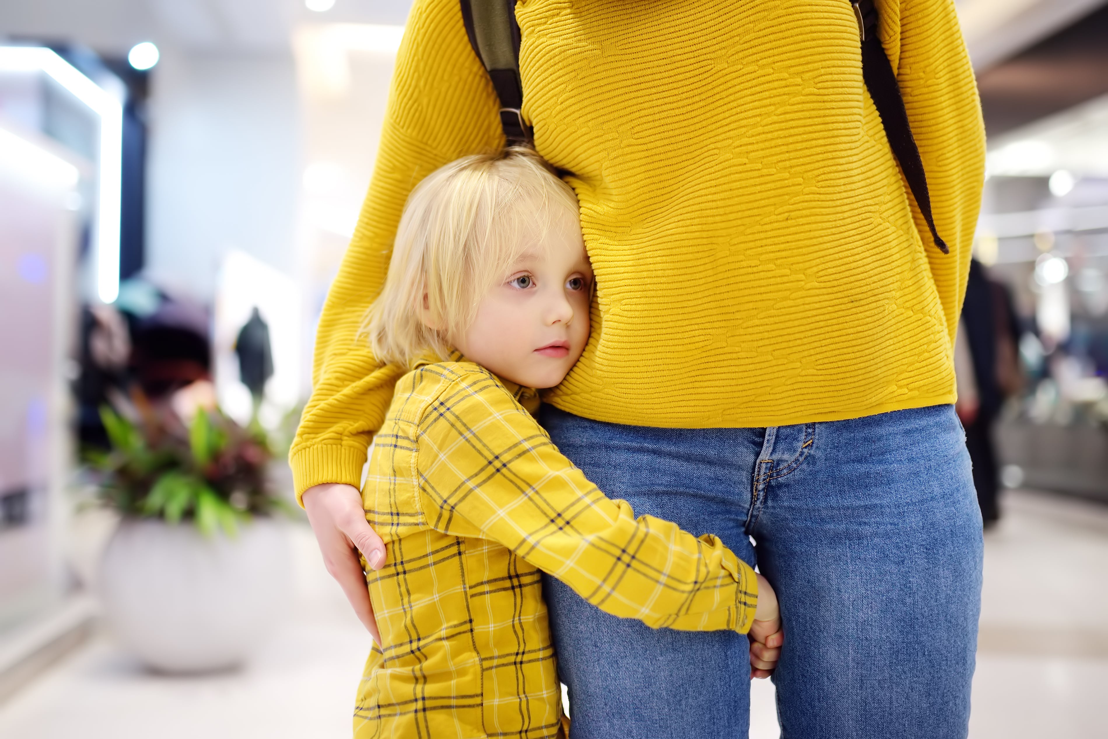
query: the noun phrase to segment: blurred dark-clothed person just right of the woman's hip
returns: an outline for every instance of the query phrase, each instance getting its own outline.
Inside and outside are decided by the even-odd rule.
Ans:
[[[965,429],[974,489],[986,528],[1001,517],[993,425],[1004,400],[1023,384],[1018,345],[1012,295],[1004,285],[988,278],[984,265],[972,260],[955,346],[955,410]]]

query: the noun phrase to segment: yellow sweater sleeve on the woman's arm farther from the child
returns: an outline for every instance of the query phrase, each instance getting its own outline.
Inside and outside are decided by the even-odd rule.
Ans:
[[[953,0],[876,0],[876,6],[881,41],[927,174],[935,226],[951,250],[944,255],[932,242],[905,182],[953,347],[985,182],[977,82]]]

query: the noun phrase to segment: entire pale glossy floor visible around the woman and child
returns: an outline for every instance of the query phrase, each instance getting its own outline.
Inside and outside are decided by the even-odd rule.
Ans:
[[[1108,737],[1108,507],[1009,493],[986,535],[974,739]],[[248,669],[144,673],[101,637],[0,706],[4,739],[339,738],[369,638],[294,533],[297,605]],[[751,739],[777,737],[773,688],[753,686]]]

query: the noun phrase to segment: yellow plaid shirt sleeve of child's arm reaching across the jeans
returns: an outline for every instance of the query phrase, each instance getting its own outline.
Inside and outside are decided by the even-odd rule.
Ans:
[[[453,383],[420,422],[427,523],[495,541],[598,608],[658,628],[749,630],[750,567],[716,536],[605,497],[491,376]]]

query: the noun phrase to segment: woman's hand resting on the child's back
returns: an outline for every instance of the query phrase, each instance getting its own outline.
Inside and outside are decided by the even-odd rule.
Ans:
[[[327,572],[342,586],[353,612],[380,645],[381,633],[377,629],[358,552],[370,567],[380,569],[384,564],[384,542],[366,523],[361,493],[353,485],[330,483],[309,487],[304,492],[302,500],[311,531],[319,542],[319,551],[324,553]]]

